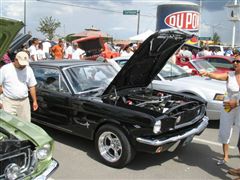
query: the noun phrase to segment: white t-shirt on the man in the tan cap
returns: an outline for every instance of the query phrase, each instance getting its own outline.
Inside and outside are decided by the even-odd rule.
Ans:
[[[0,85],[3,88],[3,95],[10,99],[28,97],[28,87],[36,84],[37,82],[30,66],[19,70],[15,68],[13,63],[9,63],[0,69]]]

